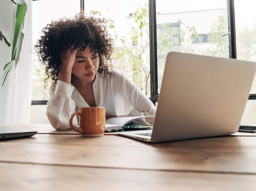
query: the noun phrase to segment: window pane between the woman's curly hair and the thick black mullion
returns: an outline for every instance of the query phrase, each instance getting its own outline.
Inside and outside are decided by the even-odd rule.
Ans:
[[[85,13],[108,20],[115,42],[112,65],[150,97],[148,0],[85,0]]]

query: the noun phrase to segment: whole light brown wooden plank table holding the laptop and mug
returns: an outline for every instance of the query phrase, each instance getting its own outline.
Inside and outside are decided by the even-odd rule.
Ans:
[[[256,135],[146,143],[50,125],[0,142],[0,190],[256,190]],[[1,127],[0,127],[1,128]]]

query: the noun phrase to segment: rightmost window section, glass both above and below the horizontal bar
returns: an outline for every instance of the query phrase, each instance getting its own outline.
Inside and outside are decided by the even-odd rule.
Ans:
[[[256,18],[253,16],[256,2],[234,0],[235,40],[237,59],[256,62]],[[256,78],[249,99],[256,98]],[[241,121],[243,125],[256,125],[256,100],[248,100]]]

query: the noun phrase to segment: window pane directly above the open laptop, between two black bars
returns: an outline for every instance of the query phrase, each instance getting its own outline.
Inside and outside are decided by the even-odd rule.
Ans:
[[[227,1],[205,2],[156,0],[158,93],[168,52],[229,57]]]

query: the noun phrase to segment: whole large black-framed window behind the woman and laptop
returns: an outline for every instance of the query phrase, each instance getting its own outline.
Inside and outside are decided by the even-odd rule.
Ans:
[[[99,0],[97,6],[93,1],[83,2],[87,15],[108,20],[109,34],[115,40],[114,68],[123,71],[154,103],[169,51],[256,61],[253,0]],[[56,12],[55,7],[60,4],[61,9]],[[34,1],[34,39],[52,19],[73,16],[79,10],[79,0],[72,4],[69,0]],[[35,65],[33,84],[37,88],[33,87],[33,99],[47,99],[42,82],[44,71]],[[256,99],[256,82],[250,99]],[[255,110],[255,102],[250,103]]]

